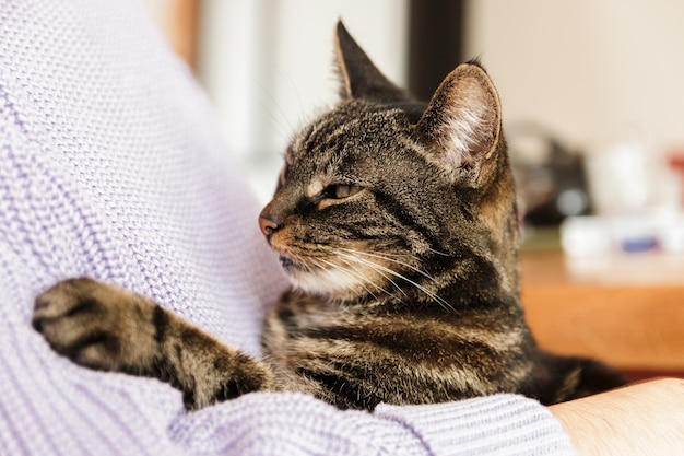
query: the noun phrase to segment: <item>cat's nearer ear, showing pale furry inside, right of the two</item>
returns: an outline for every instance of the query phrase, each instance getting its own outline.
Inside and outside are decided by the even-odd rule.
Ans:
[[[480,168],[492,157],[500,142],[502,109],[480,63],[460,65],[445,78],[415,132],[433,160],[451,172]]]

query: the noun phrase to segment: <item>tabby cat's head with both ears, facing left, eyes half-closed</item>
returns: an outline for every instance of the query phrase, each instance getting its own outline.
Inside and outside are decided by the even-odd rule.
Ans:
[[[459,66],[424,104],[341,23],[335,38],[341,100],[294,137],[259,220],[293,284],[438,301],[453,280],[488,274],[517,291],[512,178],[485,70]]]

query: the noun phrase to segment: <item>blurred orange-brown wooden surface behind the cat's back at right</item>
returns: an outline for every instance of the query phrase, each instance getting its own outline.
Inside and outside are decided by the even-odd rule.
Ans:
[[[648,265],[657,277],[658,261]],[[662,267],[668,279],[646,283],[610,271],[577,274],[559,252],[526,253],[528,323],[540,346],[556,353],[598,358],[625,371],[684,374],[684,272],[673,274],[670,261]]]

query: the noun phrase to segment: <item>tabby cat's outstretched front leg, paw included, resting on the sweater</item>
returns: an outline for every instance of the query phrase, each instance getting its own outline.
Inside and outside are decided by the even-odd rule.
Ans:
[[[92,279],[66,280],[40,294],[33,326],[78,364],[170,383],[188,409],[274,388],[264,364],[151,300]]]

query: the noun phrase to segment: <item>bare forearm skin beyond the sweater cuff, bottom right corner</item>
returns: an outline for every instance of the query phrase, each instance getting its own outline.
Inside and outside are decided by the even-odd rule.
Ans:
[[[684,451],[684,379],[661,378],[550,407],[581,456]]]

